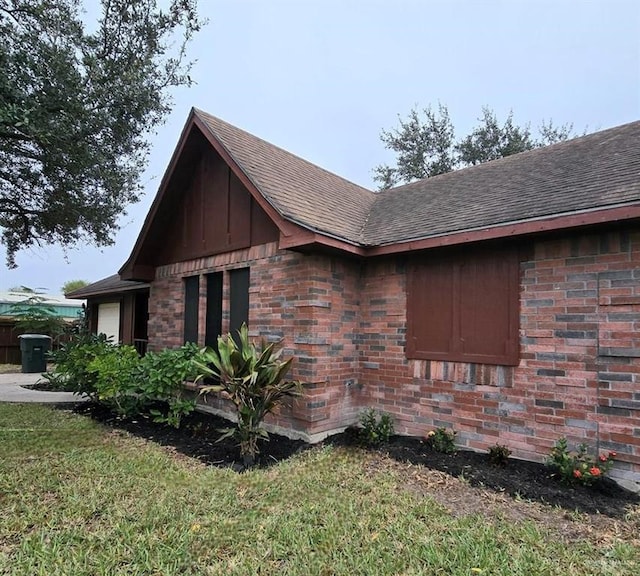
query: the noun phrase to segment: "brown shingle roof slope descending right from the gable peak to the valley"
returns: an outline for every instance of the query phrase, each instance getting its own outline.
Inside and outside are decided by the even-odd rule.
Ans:
[[[195,114],[287,220],[359,244],[377,195],[201,110]]]

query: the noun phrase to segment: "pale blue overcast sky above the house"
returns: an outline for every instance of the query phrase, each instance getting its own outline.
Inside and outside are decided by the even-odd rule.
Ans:
[[[0,246],[0,290],[55,294],[116,273],[192,106],[371,189],[373,167],[393,162],[381,130],[416,106],[446,105],[458,136],[483,106],[578,132],[640,119],[637,0],[199,0],[199,12],[196,84],[149,136],[145,195],[115,245],[28,249],[15,270]]]

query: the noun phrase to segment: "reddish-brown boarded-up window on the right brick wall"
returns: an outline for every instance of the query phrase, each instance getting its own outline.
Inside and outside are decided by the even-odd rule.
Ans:
[[[409,268],[407,357],[484,364],[519,361],[515,250],[474,250]]]

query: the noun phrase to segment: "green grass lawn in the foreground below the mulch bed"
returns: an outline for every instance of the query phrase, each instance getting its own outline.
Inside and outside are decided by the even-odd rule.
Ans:
[[[237,474],[38,405],[0,404],[0,574],[637,575],[625,520],[513,503],[318,448]]]

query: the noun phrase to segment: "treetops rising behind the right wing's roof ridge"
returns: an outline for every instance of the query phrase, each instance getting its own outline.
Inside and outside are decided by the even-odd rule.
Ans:
[[[381,189],[391,188],[414,180],[451,172],[457,168],[474,166],[518,152],[532,150],[575,136],[573,125],[554,126],[543,123],[537,136],[530,126],[518,126],[513,113],[500,123],[495,113],[482,109],[479,124],[470,134],[455,139],[454,128],[446,106],[438,109],[430,106],[422,111],[413,108],[406,119],[399,119],[399,126],[383,130],[380,139],[385,147],[396,153],[395,166],[382,164],[374,168],[374,180]]]

